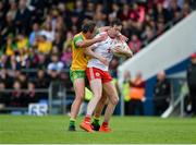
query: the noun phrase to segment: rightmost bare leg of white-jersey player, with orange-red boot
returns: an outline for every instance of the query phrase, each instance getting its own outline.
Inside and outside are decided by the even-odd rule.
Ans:
[[[111,129],[109,129],[109,121],[115,109],[115,106],[119,102],[119,96],[118,96],[117,88],[112,82],[105,83],[103,90],[106,92],[106,95],[109,97],[109,104],[105,112],[105,121],[102,125],[100,126],[99,131],[110,132]]]

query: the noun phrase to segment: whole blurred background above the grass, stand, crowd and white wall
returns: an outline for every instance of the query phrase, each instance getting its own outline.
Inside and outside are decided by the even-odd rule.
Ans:
[[[46,105],[45,113],[69,114],[73,36],[84,20],[101,27],[119,17],[134,57],[110,63],[121,97],[114,113],[195,116],[195,0],[0,0],[0,113],[36,114],[30,105]],[[86,89],[81,114],[90,97]]]

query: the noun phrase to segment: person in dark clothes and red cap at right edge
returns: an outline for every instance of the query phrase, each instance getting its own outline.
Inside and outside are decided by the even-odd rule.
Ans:
[[[192,63],[187,69],[187,84],[192,100],[192,111],[196,116],[196,53],[192,55]]]

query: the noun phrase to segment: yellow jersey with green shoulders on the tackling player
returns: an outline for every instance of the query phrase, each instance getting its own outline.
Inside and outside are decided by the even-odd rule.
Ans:
[[[79,33],[76,34],[72,40],[72,71],[86,70],[88,58],[84,53],[85,49],[76,46],[77,43],[83,41],[86,38],[83,35],[83,33]]]

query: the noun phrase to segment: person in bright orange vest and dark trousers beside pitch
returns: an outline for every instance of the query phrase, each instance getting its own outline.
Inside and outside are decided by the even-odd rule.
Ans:
[[[145,101],[145,81],[143,80],[142,73],[136,74],[135,80],[130,82],[131,86],[131,101],[130,101],[130,111],[131,114],[144,116],[144,105]]]

